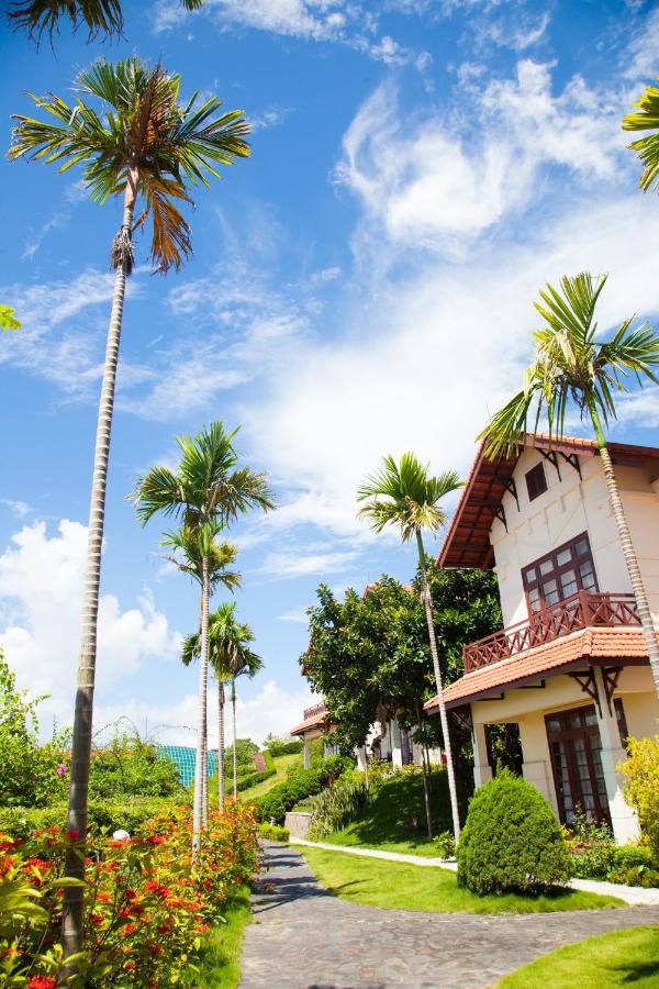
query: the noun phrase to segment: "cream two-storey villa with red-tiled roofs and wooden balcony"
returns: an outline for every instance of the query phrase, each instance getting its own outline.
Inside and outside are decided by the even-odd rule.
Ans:
[[[610,452],[659,627],[659,449]],[[481,446],[437,565],[499,581],[504,627],[465,647],[445,690],[472,727],[477,786],[492,776],[485,725],[513,722],[524,776],[561,821],[579,804],[619,843],[636,836],[616,766],[628,735],[657,732],[659,700],[595,444],[538,436],[495,462]]]

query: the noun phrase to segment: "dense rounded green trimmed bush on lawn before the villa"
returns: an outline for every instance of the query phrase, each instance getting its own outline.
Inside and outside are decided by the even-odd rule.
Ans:
[[[476,791],[458,845],[459,886],[533,894],[569,878],[562,831],[534,786],[504,769]]]

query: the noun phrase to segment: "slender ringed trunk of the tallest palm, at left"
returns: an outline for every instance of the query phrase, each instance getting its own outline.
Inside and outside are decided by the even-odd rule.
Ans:
[[[114,410],[114,390],[116,384],[116,365],[121,342],[123,305],[126,291],[126,277],[133,263],[132,226],[135,205],[136,176],[132,175],[126,186],[122,227],[116,240],[123,245],[119,255],[112,296],[112,311],[108,329],[105,347],[105,366],[99,414],[97,422],[96,448],[93,455],[93,474],[91,481],[91,499],[89,508],[89,529],[87,532],[87,569],[85,576],[85,598],[82,604],[82,635],[80,658],[78,662],[78,685],[76,690],[76,709],[74,713],[74,736],[71,741],[71,769],[69,781],[69,802],[67,832],[71,841],[85,842],[87,838],[87,803],[89,792],[89,763],[91,758],[91,723],[93,713],[93,689],[97,659],[97,626],[99,614],[99,594],[101,581],[101,549],[103,545],[103,525],[105,520],[105,486],[108,480],[108,462],[110,459],[110,436],[112,432],[112,413]],[[85,856],[76,854],[74,848],[66,856],[65,875],[68,878],[82,879],[85,876]],[[66,887],[64,890],[62,942],[65,958],[77,954],[82,948],[85,899],[83,888]],[[76,965],[67,966],[65,975],[77,970]]]

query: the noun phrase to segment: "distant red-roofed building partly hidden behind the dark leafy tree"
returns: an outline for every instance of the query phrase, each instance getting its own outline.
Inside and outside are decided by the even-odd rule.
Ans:
[[[327,716],[327,707],[324,701],[314,704],[313,708],[306,708],[300,724],[291,729],[289,734],[301,737],[304,741],[304,768],[309,768],[310,755],[309,743],[313,738],[321,738],[336,731],[335,726],[330,722]],[[336,755],[338,746],[325,743],[325,756]],[[423,762],[423,752],[420,745],[414,742],[412,732],[406,731],[398,723],[395,718],[389,721],[377,721],[371,729],[366,746],[356,749],[357,766],[359,769],[366,768],[366,758],[378,759],[380,762],[391,763],[392,766],[406,766],[414,764],[421,766]],[[431,763],[440,764],[443,754],[439,749],[432,748],[429,751]]]

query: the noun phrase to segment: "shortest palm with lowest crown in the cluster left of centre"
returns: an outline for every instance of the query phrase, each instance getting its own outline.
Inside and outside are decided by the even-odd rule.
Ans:
[[[248,625],[236,620],[235,603],[223,602],[216,611],[209,616],[209,663],[217,680],[217,788],[220,810],[225,804],[225,745],[224,745],[224,707],[226,702],[225,685],[232,682],[232,703],[234,711],[234,797],[237,796],[235,760],[236,753],[236,725],[235,725],[235,687],[236,676],[243,671],[261,668],[260,657],[253,653],[248,643],[254,641],[254,635]],[[183,643],[182,659],[189,665],[201,654],[201,642],[198,633],[189,635]],[[253,675],[254,675],[253,674]]]

